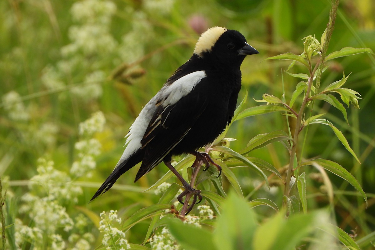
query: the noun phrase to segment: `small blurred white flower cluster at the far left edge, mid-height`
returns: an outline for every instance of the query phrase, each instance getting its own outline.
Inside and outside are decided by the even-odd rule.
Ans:
[[[10,91],[3,96],[3,106],[12,120],[27,121],[30,119],[21,96],[16,91]]]

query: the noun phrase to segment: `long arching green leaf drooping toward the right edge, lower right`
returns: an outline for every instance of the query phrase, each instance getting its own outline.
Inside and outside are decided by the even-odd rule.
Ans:
[[[365,199],[366,204],[367,204],[366,193],[363,191],[357,179],[354,178],[354,176],[350,174],[350,172],[348,172],[345,168],[343,168],[336,162],[326,160],[326,159],[309,160],[307,162],[302,163],[300,166],[307,166],[307,165],[313,166],[313,163],[317,163],[322,168],[327,169],[328,171],[332,172],[333,174],[343,178],[345,181],[350,183],[362,195],[363,199]]]

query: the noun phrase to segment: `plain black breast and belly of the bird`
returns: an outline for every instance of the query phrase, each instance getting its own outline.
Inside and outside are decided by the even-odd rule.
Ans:
[[[172,155],[189,153],[213,142],[233,118],[241,88],[240,70],[225,75],[217,72],[206,74],[205,81],[191,92],[204,109],[186,136],[171,151]]]

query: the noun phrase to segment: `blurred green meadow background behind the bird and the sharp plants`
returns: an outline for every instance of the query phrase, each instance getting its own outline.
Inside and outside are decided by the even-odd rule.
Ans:
[[[330,8],[328,0],[0,1],[0,175],[9,176],[9,194],[21,197],[27,192],[27,180],[36,174],[40,157],[69,172],[77,158],[78,124],[100,110],[107,120],[104,131],[96,135],[102,153],[96,158],[93,176],[77,180],[84,187],[78,205],[98,213],[121,208],[136,211],[156,203],[158,198],[151,193],[124,191],[118,186],[88,205],[121,156],[124,136],[142,105],[189,59],[200,34],[213,26],[239,30],[260,52],[246,58],[241,67],[239,100],[248,91],[248,108],[258,105],[253,98],[259,100],[263,93],[282,94],[281,69],[287,69],[289,63],[264,59],[285,52],[301,54],[305,36],[320,39]],[[374,13],[374,0],[342,0],[328,53],[346,46],[374,51]],[[296,65],[292,72],[301,73],[299,69]],[[322,126],[309,128],[303,157],[332,159],[359,180],[369,194],[367,209],[359,194],[350,193],[354,189],[330,175],[338,190],[338,225],[349,233],[368,234],[375,229],[374,57],[360,54],[333,61],[323,74],[322,85],[341,79],[343,71],[345,75],[352,72],[346,86],[363,98],[360,109],[347,109],[349,124],[328,105],[320,103],[315,109],[327,113],[362,164],[356,163],[329,127]],[[289,100],[299,81],[286,74],[283,77]],[[287,131],[280,114],[237,121],[227,137],[237,139],[230,147],[238,151],[255,135],[274,130]],[[270,144],[252,156],[278,169],[289,160],[281,144]],[[133,184],[136,171],[131,169],[117,183],[145,189],[167,168],[160,164]],[[235,174],[246,194],[260,180],[248,169],[236,169]],[[321,183],[308,179],[309,207],[324,207],[328,201]],[[277,183],[275,189],[275,193],[260,190],[252,198],[272,197],[281,204]],[[349,195],[344,196],[344,191]],[[147,223],[136,225],[142,226],[147,229]]]

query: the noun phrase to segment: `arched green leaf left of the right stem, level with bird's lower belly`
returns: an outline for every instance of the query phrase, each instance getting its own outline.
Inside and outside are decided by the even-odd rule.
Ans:
[[[264,133],[255,136],[252,138],[247,147],[241,150],[239,153],[240,154],[247,154],[252,150],[255,150],[257,148],[263,148],[264,146],[276,142],[276,141],[285,141],[285,140],[291,140],[289,135],[285,133],[282,130],[276,130],[270,133]]]

